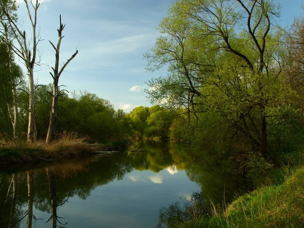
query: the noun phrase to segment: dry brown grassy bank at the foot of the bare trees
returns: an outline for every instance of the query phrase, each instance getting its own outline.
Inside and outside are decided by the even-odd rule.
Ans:
[[[87,138],[78,135],[62,135],[50,143],[37,141],[6,142],[0,149],[0,164],[36,163],[43,161],[62,160],[94,154],[97,150],[124,150],[127,141],[109,144],[88,143]]]

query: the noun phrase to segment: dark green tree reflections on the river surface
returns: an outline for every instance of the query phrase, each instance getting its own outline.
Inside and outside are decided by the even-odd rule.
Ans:
[[[159,173],[167,169],[171,174],[185,170],[188,178],[201,187],[202,196],[215,203],[222,201],[224,186],[227,195],[234,193],[234,186],[227,178],[210,171],[207,165],[194,165],[189,151],[178,144],[144,141],[136,142],[129,150],[136,147],[147,149],[147,153],[96,156],[82,161],[44,164],[44,167],[34,169],[23,168],[23,172],[10,171],[13,174],[2,175],[0,224],[9,228],[25,227],[26,224],[29,228],[41,219],[42,213],[38,213],[41,211],[49,215],[39,222],[48,223],[52,228],[67,226],[69,221],[60,214],[61,210],[58,212],[59,208],[73,197],[87,199],[96,187],[115,179],[122,180],[133,170]]]

